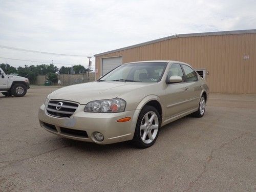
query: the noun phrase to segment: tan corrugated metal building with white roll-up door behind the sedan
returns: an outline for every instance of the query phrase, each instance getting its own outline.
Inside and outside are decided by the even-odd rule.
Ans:
[[[95,56],[95,78],[121,63],[178,60],[197,69],[210,92],[256,94],[256,29],[178,34]]]

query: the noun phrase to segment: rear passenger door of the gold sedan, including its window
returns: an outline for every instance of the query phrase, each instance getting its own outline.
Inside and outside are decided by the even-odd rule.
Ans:
[[[187,110],[197,108],[199,104],[199,97],[202,90],[201,83],[198,80],[198,75],[194,69],[187,65],[181,64],[181,67],[183,69],[183,73],[187,82],[186,94],[189,99],[189,102],[186,103]]]

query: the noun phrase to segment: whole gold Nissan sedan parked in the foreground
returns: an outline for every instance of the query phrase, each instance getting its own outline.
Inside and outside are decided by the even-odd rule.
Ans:
[[[132,140],[152,146],[160,127],[188,114],[202,117],[208,98],[203,78],[187,63],[125,63],[95,82],[49,94],[38,118],[47,131],[70,139],[109,144]]]

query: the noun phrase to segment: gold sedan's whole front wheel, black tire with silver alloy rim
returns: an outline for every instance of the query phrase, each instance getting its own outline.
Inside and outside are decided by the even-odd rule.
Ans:
[[[153,106],[144,106],[141,110],[132,143],[139,148],[152,146],[158,137],[161,126],[159,112]]]

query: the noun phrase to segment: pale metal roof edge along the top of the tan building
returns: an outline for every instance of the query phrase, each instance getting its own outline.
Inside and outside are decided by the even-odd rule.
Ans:
[[[146,42],[142,42],[141,44],[136,44],[133,46],[128,46],[128,47],[124,47],[124,48],[120,48],[120,49],[115,49],[112,51],[106,51],[103,53],[98,53],[95,54],[94,56],[101,56],[101,55],[106,55],[106,54],[110,54],[110,53],[115,53],[118,51],[124,51],[127,49],[132,49],[132,48],[136,48],[136,47],[140,47],[140,46],[145,46],[145,45],[150,45],[150,44],[154,44],[155,42],[160,42],[160,41],[164,41],[164,40],[169,40],[169,39],[173,39],[173,38],[179,38],[179,37],[198,37],[198,36],[211,36],[211,35],[233,35],[233,34],[246,34],[246,33],[256,33],[256,29],[249,29],[249,30],[236,30],[236,31],[218,31],[218,32],[206,32],[206,33],[187,33],[187,34],[176,34],[176,35],[171,35],[168,37],[163,37],[163,38],[159,38],[159,39],[155,39],[155,40],[151,40],[151,41],[146,41]]]

